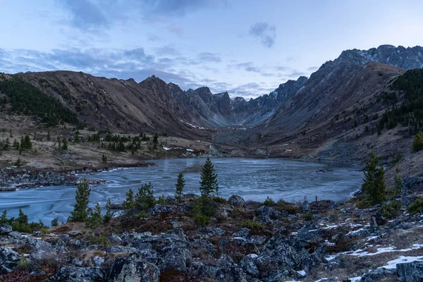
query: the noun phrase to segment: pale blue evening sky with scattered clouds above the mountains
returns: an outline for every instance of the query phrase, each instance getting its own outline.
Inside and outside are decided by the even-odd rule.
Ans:
[[[345,49],[422,45],[423,1],[0,0],[0,71],[268,94]]]

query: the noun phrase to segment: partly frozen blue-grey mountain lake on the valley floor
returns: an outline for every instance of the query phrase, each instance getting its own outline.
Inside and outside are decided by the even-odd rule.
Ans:
[[[92,186],[90,203],[102,207],[110,197],[123,202],[130,188],[137,191],[142,183],[152,182],[154,194],[173,195],[178,173],[185,175],[185,193],[199,194],[201,168],[205,159],[154,160],[157,166],[125,168],[88,174],[87,178],[104,179],[104,185]],[[284,159],[212,159],[219,181],[219,196],[228,199],[240,195],[245,200],[263,201],[267,196],[279,199],[313,201],[346,200],[360,189],[364,177],[362,166],[331,161],[296,161]],[[80,175],[81,176],[81,175]],[[17,216],[18,209],[30,221],[40,219],[50,224],[54,217],[66,221],[75,204],[75,187],[49,186],[31,190],[2,192],[0,210]]]

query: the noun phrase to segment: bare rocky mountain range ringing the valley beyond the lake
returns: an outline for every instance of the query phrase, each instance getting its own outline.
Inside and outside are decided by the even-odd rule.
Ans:
[[[351,118],[360,121],[360,111],[386,109],[374,97],[405,70],[422,67],[422,47],[352,49],[324,63],[308,79],[288,80],[248,101],[231,99],[228,92],[212,94],[208,87],[184,91],[154,75],[140,83],[71,71],[17,76],[59,99],[97,130],[166,132],[245,146],[278,144],[303,135],[307,146],[314,146],[314,140],[324,142],[349,128]],[[231,128],[238,131],[230,133]],[[235,136],[240,128],[248,131],[243,137]]]

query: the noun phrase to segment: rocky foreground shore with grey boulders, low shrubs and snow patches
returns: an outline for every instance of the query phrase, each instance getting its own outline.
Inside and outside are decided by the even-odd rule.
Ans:
[[[423,216],[386,221],[330,201],[262,205],[233,196],[208,226],[195,195],[93,232],[0,226],[0,281],[422,281]],[[312,216],[311,216],[312,215]],[[99,235],[99,233],[101,235]]]

